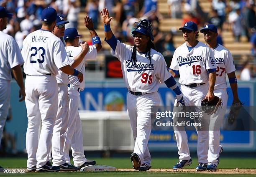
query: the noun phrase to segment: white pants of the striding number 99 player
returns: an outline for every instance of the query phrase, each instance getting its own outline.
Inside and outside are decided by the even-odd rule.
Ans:
[[[159,106],[159,104],[157,92],[141,96],[130,92],[127,94],[127,112],[135,140],[133,152],[140,157],[141,164],[151,164],[151,155],[148,150],[148,139],[151,133],[151,106]]]

